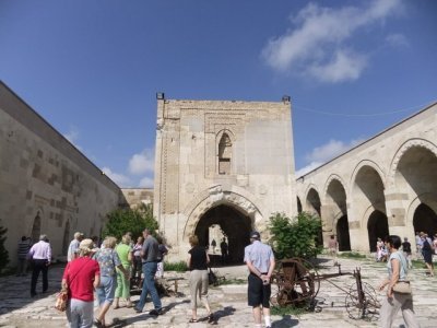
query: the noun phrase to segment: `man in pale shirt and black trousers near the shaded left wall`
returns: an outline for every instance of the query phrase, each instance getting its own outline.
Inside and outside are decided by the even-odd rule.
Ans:
[[[43,293],[48,289],[48,267],[51,262],[51,247],[46,235],[39,236],[39,242],[34,244],[28,251],[28,258],[32,259],[32,282],[31,297],[36,295],[36,282],[39,272],[43,272]]]

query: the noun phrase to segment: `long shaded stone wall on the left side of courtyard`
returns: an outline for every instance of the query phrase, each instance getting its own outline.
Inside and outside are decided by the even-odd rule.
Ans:
[[[120,188],[0,82],[0,226],[11,265],[22,235],[47,234],[62,258],[76,231],[99,235]]]

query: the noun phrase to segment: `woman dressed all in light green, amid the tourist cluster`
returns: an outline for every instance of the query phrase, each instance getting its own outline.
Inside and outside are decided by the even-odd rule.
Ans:
[[[130,246],[131,239],[128,234],[121,237],[121,243],[117,245],[116,251],[120,258],[121,265],[125,270],[130,272],[132,265],[132,248]],[[117,289],[114,298],[114,308],[119,308],[120,297],[126,300],[126,307],[132,307],[132,302],[130,301],[130,279],[126,277],[125,273],[117,268]]]

